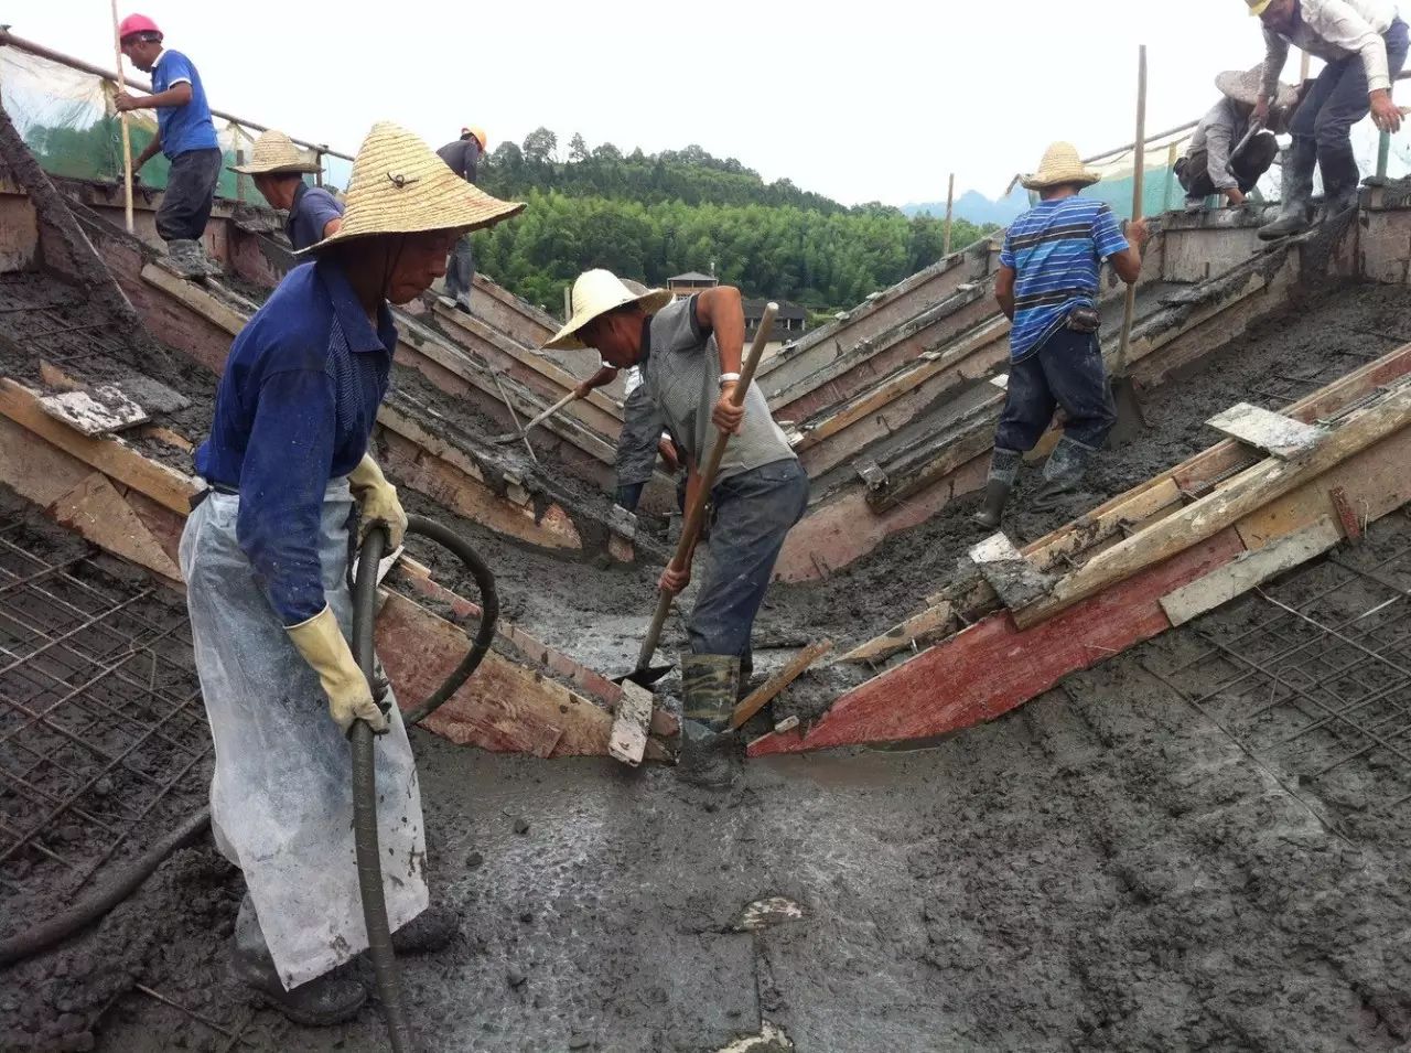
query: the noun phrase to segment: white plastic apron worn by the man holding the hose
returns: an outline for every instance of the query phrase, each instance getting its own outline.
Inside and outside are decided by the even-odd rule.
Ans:
[[[353,851],[351,748],[236,542],[240,498],[212,494],[186,521],[181,569],[206,716],[216,742],[210,819],[241,871],[285,988],[367,949]],[[323,497],[323,590],[344,637],[347,480]],[[426,909],[422,796],[401,713],[375,744],[382,885],[392,930]]]

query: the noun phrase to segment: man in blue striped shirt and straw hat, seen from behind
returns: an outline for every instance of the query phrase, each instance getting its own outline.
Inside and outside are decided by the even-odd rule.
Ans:
[[[1054,143],[1038,172],[1023,181],[1038,191],[1038,205],[1005,234],[995,299],[1015,327],[985,507],[975,514],[982,526],[999,525],[1019,462],[1048,431],[1057,407],[1067,421],[1034,508],[1051,507],[1077,487],[1118,419],[1098,343],[1098,268],[1110,260],[1118,277],[1134,284],[1147,229],[1143,220],[1129,223],[1129,244],[1105,202],[1078,196],[1101,178],[1071,144]]]

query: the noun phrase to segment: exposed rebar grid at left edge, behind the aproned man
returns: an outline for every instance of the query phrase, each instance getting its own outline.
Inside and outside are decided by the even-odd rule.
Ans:
[[[7,886],[72,895],[202,792],[210,735],[189,630],[158,589],[23,519],[0,526]]]

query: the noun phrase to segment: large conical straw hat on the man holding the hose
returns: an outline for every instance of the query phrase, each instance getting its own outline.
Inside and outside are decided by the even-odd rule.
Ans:
[[[480,230],[522,209],[461,179],[406,128],[378,121],[353,161],[343,224],[299,254],[374,234]]]

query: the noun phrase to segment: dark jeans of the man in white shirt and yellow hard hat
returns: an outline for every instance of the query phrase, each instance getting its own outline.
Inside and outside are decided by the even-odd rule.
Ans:
[[[1383,34],[1387,66],[1393,82],[1407,61],[1407,24],[1397,18]],[[1349,196],[1362,182],[1357,157],[1352,150],[1352,126],[1370,112],[1367,72],[1362,56],[1353,55],[1324,66],[1312,89],[1298,106],[1288,131],[1297,140],[1316,144],[1318,169],[1324,176],[1324,195],[1333,200]],[[1297,155],[1297,150],[1290,155]],[[1311,151],[1304,151],[1311,154]],[[1312,172],[1307,172],[1312,176]]]

